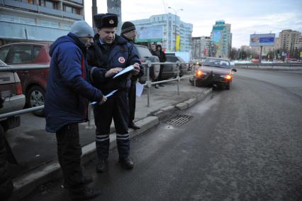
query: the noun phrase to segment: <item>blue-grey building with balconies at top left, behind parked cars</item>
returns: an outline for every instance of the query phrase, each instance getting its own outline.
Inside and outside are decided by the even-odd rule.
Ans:
[[[84,20],[84,0],[0,1],[0,45],[22,40],[53,41]]]

